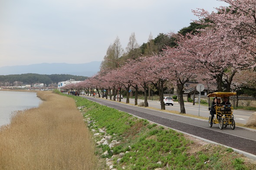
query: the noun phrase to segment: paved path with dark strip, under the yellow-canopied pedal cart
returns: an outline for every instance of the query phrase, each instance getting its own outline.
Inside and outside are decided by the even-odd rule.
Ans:
[[[95,101],[99,104],[106,105],[108,107],[113,107],[126,113],[130,113],[134,116],[147,119],[151,122],[158,123],[190,135],[194,135],[197,138],[203,139],[205,141],[225,145],[227,147],[233,148],[235,151],[238,151],[241,154],[246,155],[249,158],[256,160],[256,130],[238,126],[236,126],[234,130],[232,130],[230,126],[220,130],[218,124],[213,124],[213,126],[210,128],[208,126],[207,120],[181,116],[164,111],[148,109],[145,107],[132,106],[123,104],[121,102],[105,100],[102,98],[93,98],[90,96],[82,95],[81,97]]]

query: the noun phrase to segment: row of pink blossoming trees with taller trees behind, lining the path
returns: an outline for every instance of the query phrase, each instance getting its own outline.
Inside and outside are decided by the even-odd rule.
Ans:
[[[217,13],[203,9],[194,11],[199,20],[190,26],[199,29],[185,33],[185,28],[178,34],[163,35],[157,43],[150,36],[148,43],[141,47],[133,33],[126,53],[117,38],[108,47],[101,71],[67,88],[84,89],[87,94],[92,89],[106,89],[110,97],[123,88],[127,91],[126,103],[129,103],[132,88],[135,104],[138,91],[142,90],[145,106],[148,106],[147,91],[154,87],[164,110],[164,88],[175,87],[181,113],[186,113],[183,90],[188,81],[194,80],[207,87],[214,83],[217,91],[237,91],[241,86],[256,88],[256,1],[222,1],[230,6],[217,8]]]

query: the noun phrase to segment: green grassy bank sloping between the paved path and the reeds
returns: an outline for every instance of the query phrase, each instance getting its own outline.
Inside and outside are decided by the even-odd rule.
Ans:
[[[85,98],[69,97],[75,99],[77,106],[85,106],[82,113],[95,122],[89,124],[89,129],[98,131],[98,128],[105,128],[105,135],[112,135],[112,140],[120,142],[111,149],[107,145],[98,145],[95,154],[101,157],[100,159],[129,151],[121,158],[119,164],[117,158],[114,158],[114,166],[118,170],[122,170],[123,166],[129,170],[246,170],[256,166],[244,161],[246,157],[231,148],[213,144],[201,145],[187,139],[183,133],[150,123],[148,120],[138,119]],[[100,140],[100,137],[95,139]],[[102,156],[105,151],[108,151],[108,156]]]

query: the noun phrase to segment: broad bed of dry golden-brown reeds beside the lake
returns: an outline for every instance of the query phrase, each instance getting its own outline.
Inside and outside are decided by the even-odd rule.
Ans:
[[[92,136],[73,99],[38,92],[38,108],[19,111],[0,129],[1,170],[93,170]]]

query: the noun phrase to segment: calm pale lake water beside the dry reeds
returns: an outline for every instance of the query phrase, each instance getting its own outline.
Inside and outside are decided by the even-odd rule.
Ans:
[[[10,123],[13,111],[38,107],[41,102],[35,92],[0,91],[0,126]]]

